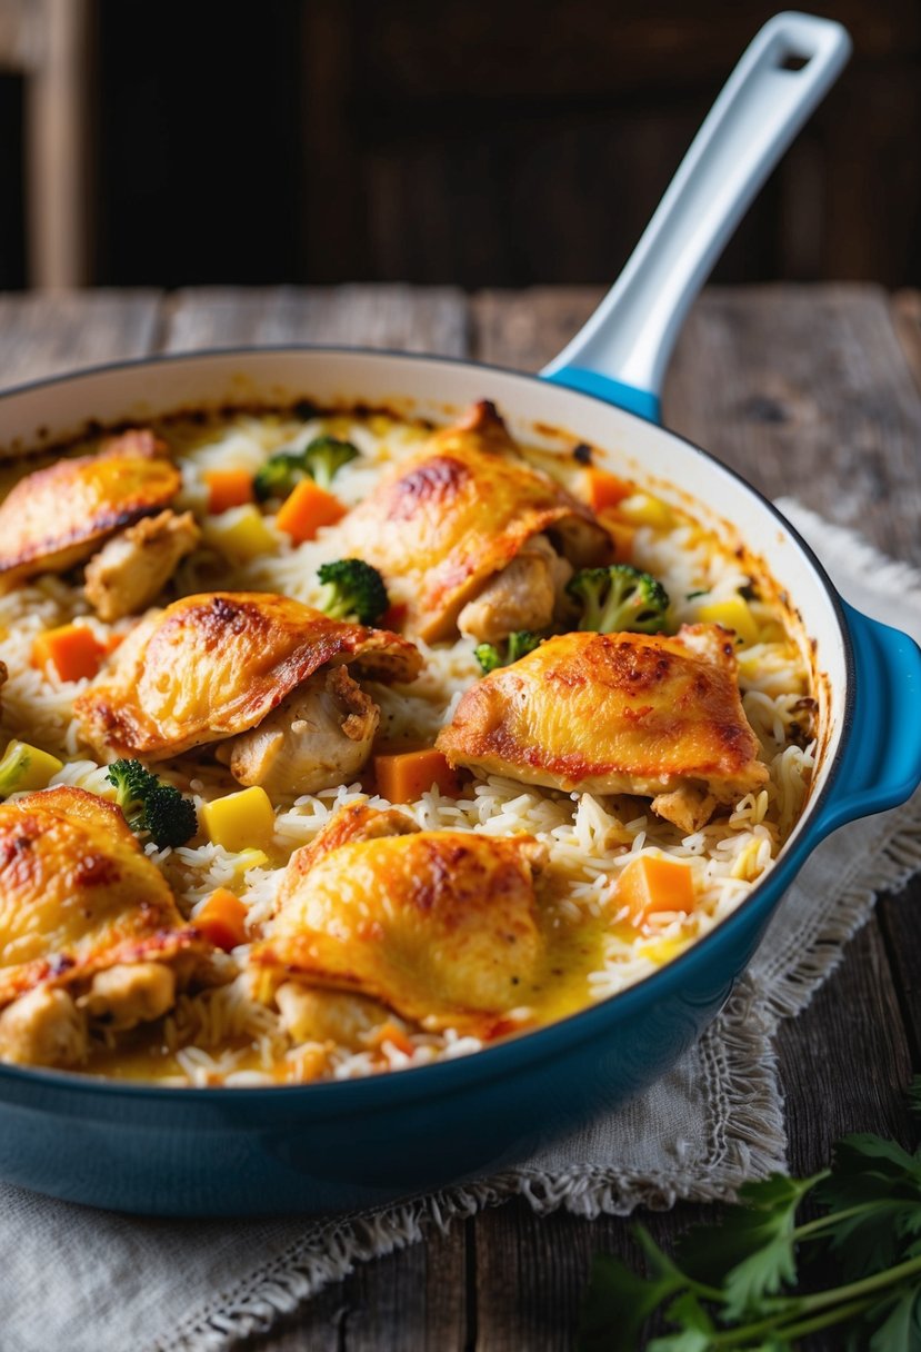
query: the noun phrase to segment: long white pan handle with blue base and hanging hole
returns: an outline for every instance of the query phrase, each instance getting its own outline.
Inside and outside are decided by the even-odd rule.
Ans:
[[[851,54],[840,23],[778,14],[729,76],[640,242],[548,380],[659,422],[687,310],[749,203]]]

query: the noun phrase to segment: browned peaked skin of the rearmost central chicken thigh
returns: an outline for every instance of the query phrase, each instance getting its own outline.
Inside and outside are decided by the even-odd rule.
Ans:
[[[536,535],[579,568],[610,552],[591,511],[521,458],[485,402],[386,475],[342,530],[385,579],[409,584],[406,631],[428,642],[452,637],[463,606]]]

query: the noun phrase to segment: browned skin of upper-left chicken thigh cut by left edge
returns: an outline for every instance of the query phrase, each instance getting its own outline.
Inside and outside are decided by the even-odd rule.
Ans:
[[[165,442],[147,429],[26,475],[0,503],[0,583],[72,568],[116,530],[162,511],[181,481]]]

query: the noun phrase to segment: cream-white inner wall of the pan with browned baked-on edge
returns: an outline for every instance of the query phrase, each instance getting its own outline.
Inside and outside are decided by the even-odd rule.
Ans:
[[[448,420],[473,400],[492,399],[521,439],[551,449],[586,441],[614,472],[690,507],[724,539],[744,541],[798,611],[804,642],[814,645],[821,710],[814,802],[841,740],[848,680],[826,581],[790,527],[725,466],[600,400],[529,376],[428,357],[323,349],[205,353],[111,366],[3,395],[0,453],[58,443],[80,434],[88,422],[108,426],[182,410],[304,397],[319,406],[385,406],[435,422]],[[791,838],[808,818],[804,814]]]

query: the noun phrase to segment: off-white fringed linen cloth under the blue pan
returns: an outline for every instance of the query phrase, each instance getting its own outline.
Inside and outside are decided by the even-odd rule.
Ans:
[[[848,600],[921,641],[921,575],[779,504]],[[867,564],[872,566],[868,569]],[[893,585],[879,585],[880,568]],[[872,573],[875,585],[860,577]],[[883,577],[886,580],[886,577]],[[887,615],[880,598],[898,598]],[[266,1330],[359,1261],[513,1194],[537,1211],[627,1213],[731,1197],[785,1164],[771,1034],[837,965],[876,892],[921,868],[921,795],[836,833],[783,900],[744,982],[647,1094],[520,1168],[439,1197],[332,1221],[132,1220],[0,1186],[3,1352],[200,1352]]]

